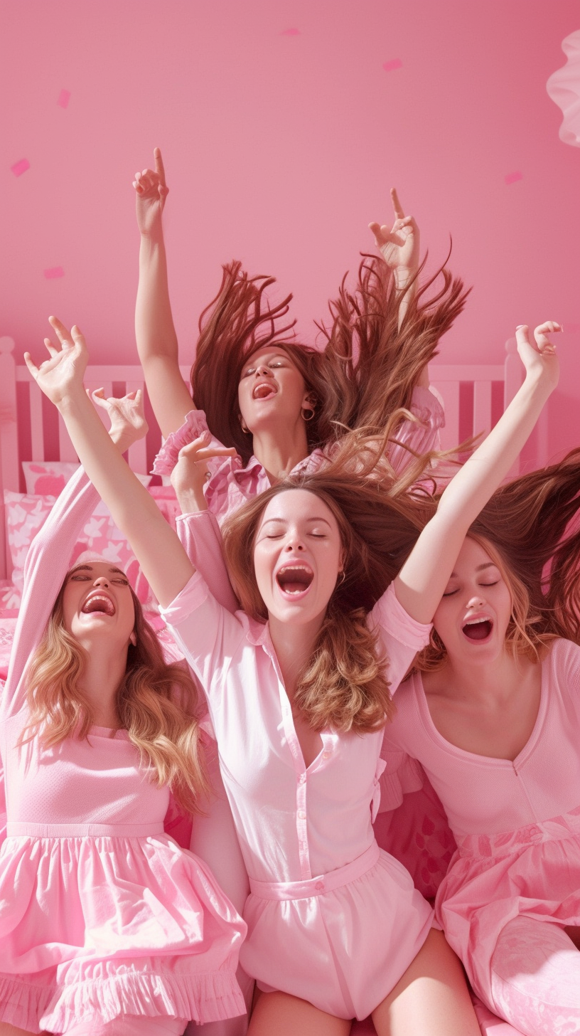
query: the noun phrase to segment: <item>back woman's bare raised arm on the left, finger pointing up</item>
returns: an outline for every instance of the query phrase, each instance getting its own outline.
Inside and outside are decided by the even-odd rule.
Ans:
[[[133,184],[141,231],[135,334],[153,413],[167,438],[183,424],[192,409],[192,398],[179,371],[177,336],[169,300],[162,220],[169,188],[158,147],[153,155],[154,170],[136,173]]]

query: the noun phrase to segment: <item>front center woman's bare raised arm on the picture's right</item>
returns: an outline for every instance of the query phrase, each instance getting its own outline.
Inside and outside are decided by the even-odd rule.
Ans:
[[[534,332],[534,346],[528,328],[517,328],[524,383],[495,428],[452,479],[436,515],[395,580],[398,600],[419,623],[433,618],[471,522],[508,474],[558,383],[555,346],[548,336],[560,329],[551,320],[541,324]]]

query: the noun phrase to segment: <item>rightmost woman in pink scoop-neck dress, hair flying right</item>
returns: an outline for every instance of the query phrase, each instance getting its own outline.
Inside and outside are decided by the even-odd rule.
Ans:
[[[527,1036],[580,1032],[579,516],[579,450],[493,495],[383,748],[390,787],[405,752],[439,795],[458,850],[437,917]]]

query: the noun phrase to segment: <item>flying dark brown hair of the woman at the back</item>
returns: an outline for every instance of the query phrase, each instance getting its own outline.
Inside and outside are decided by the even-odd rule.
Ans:
[[[428,299],[439,275],[442,285]],[[213,435],[235,447],[244,464],[252,456],[252,436],[241,430],[237,391],[243,365],[256,349],[280,344],[300,371],[316,401],[307,424],[312,451],[349,429],[382,431],[395,410],[408,409],[421,371],[436,355],[439,338],[468,294],[442,267],[410,298],[411,284],[398,291],[383,260],[365,256],[354,290],[347,290],[345,277],[329,304],[329,327],[319,325],[325,338],[320,351],[293,339],[295,320],[286,320],[292,295],[270,305],[265,291],[273,283],[271,277],[249,277],[240,262],[229,263],[199,322],[192,368],[195,404],[205,410]],[[404,298],[410,300],[399,329]]]

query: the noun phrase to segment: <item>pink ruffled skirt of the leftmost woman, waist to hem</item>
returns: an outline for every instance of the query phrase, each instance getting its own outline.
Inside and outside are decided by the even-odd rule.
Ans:
[[[1,1020],[63,1032],[121,1014],[203,1024],[245,1013],[235,979],[243,921],[163,825],[139,827],[8,824]]]

